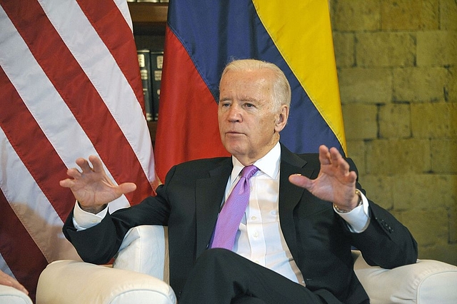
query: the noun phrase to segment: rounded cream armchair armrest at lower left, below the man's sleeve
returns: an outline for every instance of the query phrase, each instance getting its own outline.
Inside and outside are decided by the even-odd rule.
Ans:
[[[57,260],[41,273],[36,304],[159,303],[175,304],[164,281],[130,270],[76,260]]]

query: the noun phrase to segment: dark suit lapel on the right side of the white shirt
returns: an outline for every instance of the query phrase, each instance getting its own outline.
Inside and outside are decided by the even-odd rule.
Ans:
[[[306,168],[306,161],[291,153],[281,145],[281,175],[279,177],[279,219],[281,230],[288,248],[294,258],[298,257],[295,224],[293,222],[293,209],[300,202],[305,189],[297,187],[288,181],[292,174],[300,173],[308,178],[313,174],[312,168]]]

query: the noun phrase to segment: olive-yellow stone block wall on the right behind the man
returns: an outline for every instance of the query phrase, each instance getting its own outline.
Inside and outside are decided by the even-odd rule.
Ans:
[[[331,0],[348,156],[419,258],[457,265],[457,1]]]

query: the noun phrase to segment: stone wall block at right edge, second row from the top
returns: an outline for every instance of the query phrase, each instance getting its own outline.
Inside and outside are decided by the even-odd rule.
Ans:
[[[417,66],[457,64],[457,31],[422,31],[416,37]]]

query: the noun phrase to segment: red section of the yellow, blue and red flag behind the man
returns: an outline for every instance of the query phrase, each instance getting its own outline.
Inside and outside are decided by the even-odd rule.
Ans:
[[[182,102],[164,102],[159,106],[159,116],[166,118],[159,119],[154,149],[156,172],[161,181],[165,180],[166,173],[176,163],[229,156],[220,139],[214,144],[215,138],[220,138],[217,103],[189,54],[168,27],[165,47],[161,101]],[[176,83],[180,85],[176,86]]]

